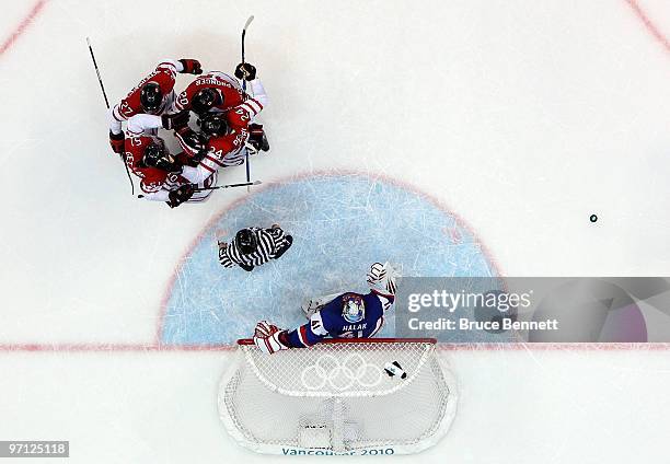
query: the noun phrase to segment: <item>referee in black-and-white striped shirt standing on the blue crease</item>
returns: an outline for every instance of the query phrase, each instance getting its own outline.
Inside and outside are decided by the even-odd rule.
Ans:
[[[240,266],[252,271],[270,259],[278,259],[293,243],[279,225],[270,229],[249,228],[235,234],[232,242],[219,241],[219,263],[226,267]]]

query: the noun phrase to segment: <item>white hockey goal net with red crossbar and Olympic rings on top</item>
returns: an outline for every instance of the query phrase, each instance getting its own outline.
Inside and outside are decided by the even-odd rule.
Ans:
[[[435,444],[455,414],[457,390],[436,340],[327,340],[261,352],[239,340],[219,386],[219,414],[262,453],[404,454]]]

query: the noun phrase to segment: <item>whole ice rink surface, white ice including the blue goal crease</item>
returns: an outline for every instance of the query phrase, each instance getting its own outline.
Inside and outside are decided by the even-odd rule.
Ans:
[[[250,14],[266,185],[134,199],[85,37],[116,102],[163,58],[230,72]],[[270,462],[219,424],[228,343],[384,255],[415,275],[669,274],[662,0],[31,0],[0,31],[0,440],[70,440],[72,463]],[[274,218],[310,246],[255,281],[217,268],[216,236]],[[251,309],[216,303],[245,289]],[[601,348],[449,351],[459,414],[420,459],[666,460],[670,349]]]

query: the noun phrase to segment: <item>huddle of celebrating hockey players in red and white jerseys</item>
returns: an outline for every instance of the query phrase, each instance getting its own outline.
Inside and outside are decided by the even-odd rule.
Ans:
[[[197,76],[178,95],[177,73]],[[242,62],[234,74],[239,80],[220,71],[203,74],[195,59],[164,60],[109,109],[112,150],[140,178],[142,198],[171,208],[203,201],[220,169],[244,163],[247,151],[269,150],[263,126],[254,121],[267,105],[256,68]],[[240,81],[250,85],[249,92]],[[192,113],[198,130],[189,126]],[[159,137],[161,128],[173,131],[178,153]]]

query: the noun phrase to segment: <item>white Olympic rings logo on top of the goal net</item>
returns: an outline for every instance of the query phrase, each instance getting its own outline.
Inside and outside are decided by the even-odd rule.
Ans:
[[[322,355],[315,363],[302,369],[300,373],[302,385],[311,391],[323,390],[326,385],[337,392],[353,386],[370,388],[379,385],[382,380],[382,369],[368,363],[357,352],[348,355],[342,361],[333,355]]]

